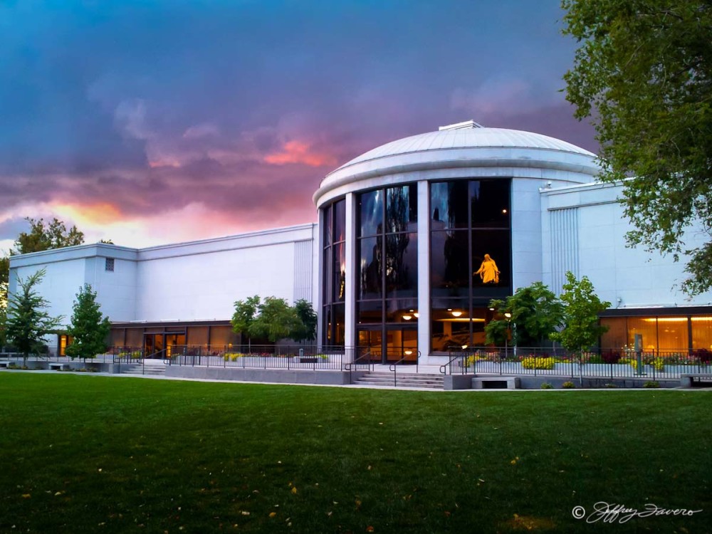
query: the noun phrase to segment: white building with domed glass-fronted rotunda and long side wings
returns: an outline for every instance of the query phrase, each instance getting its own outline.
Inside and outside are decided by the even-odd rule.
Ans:
[[[305,298],[321,343],[368,347],[387,361],[480,345],[489,300],[535,281],[560,291],[572,271],[613,303],[603,347],[642,333],[646,348],[711,348],[712,295],[687,300],[684,262],[626,248],[622,188],[597,184],[598,171],[595,155],[570,143],[463,122],[335,169],[314,194],[318,224],[13,256],[10,290],[46,268],[41,292],[68,318],[90,283],[114,324],[112,344],[148,354],[239,342],[229,328],[235,300]],[[486,255],[496,279],[478,274]]]

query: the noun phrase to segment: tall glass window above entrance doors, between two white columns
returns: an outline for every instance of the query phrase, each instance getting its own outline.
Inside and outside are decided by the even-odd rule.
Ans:
[[[417,184],[358,197],[357,337],[377,360],[417,357]]]

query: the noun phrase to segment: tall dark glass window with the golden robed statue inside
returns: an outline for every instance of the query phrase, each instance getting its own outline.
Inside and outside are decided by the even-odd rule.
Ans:
[[[430,184],[431,350],[483,345],[488,303],[511,295],[511,179]]]

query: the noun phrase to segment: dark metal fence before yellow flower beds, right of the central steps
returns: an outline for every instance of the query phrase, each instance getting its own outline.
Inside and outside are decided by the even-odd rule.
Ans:
[[[712,352],[700,350],[597,350],[473,347],[451,352],[445,375],[535,375],[602,379],[679,379],[712,375]]]

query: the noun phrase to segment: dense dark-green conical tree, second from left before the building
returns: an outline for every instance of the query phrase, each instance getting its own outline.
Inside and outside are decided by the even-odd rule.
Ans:
[[[96,301],[96,292],[85,283],[74,301],[71,324],[67,335],[73,337],[66,353],[69,357],[93,358],[106,351],[106,339],[111,330],[111,323],[100,311]]]

